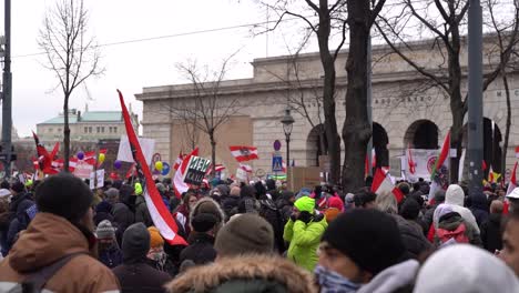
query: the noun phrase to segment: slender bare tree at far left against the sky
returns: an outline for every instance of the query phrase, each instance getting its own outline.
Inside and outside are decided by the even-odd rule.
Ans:
[[[64,170],[69,170],[70,128],[69,100],[88,78],[100,75],[99,48],[88,36],[88,11],[82,0],[60,0],[47,12],[38,43],[47,54],[45,68],[59,80],[63,92]]]

